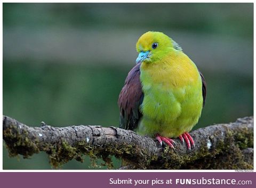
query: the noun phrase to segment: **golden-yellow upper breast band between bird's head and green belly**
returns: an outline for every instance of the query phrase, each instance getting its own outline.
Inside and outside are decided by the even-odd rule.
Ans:
[[[182,52],[166,55],[156,62],[142,62],[140,71],[142,86],[183,87],[199,78],[195,64]]]

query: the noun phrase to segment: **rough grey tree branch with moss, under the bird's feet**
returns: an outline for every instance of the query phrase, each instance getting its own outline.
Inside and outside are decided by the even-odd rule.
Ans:
[[[178,139],[175,151],[162,148],[131,130],[101,126],[29,127],[3,116],[3,139],[11,157],[24,158],[44,151],[54,168],[84,154],[102,158],[111,168],[111,156],[122,158],[122,169],[253,169],[253,117],[239,118],[191,132],[196,141],[188,153]]]

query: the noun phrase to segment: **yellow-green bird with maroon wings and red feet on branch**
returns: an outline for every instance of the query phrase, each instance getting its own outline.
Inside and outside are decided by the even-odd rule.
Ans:
[[[182,48],[163,32],[148,31],[136,43],[139,53],[119,94],[119,127],[155,137],[174,149],[180,138],[190,151],[190,130],[201,117],[206,81]]]

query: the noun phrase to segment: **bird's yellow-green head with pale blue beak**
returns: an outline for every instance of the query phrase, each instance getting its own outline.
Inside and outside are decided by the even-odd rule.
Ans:
[[[173,50],[182,51],[182,48],[163,32],[148,31],[139,38],[136,50],[139,52],[136,63],[150,63],[161,60]]]

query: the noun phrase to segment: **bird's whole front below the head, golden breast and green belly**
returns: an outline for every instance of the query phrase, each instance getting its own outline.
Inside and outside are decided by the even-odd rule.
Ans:
[[[142,63],[144,99],[139,134],[177,137],[198,122],[203,107],[202,80],[189,58],[182,62]]]

